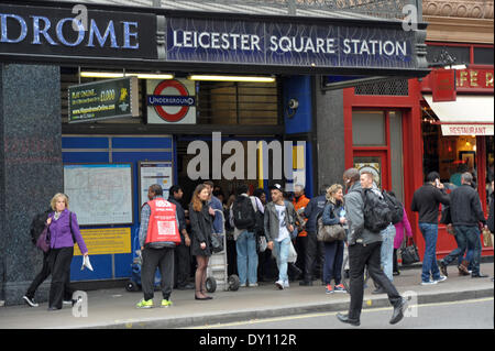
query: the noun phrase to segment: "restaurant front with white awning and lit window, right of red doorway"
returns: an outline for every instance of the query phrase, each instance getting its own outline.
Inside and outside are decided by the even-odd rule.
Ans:
[[[493,46],[492,46],[493,47]],[[472,62],[472,61],[471,61]],[[460,185],[460,174],[471,172],[487,216],[491,182],[494,179],[494,66],[470,64],[455,70],[454,101],[435,102],[433,74],[421,83],[421,133],[424,174],[438,171],[442,183]],[[455,240],[439,227],[438,257],[457,248]],[[493,255],[483,245],[482,255]]]

